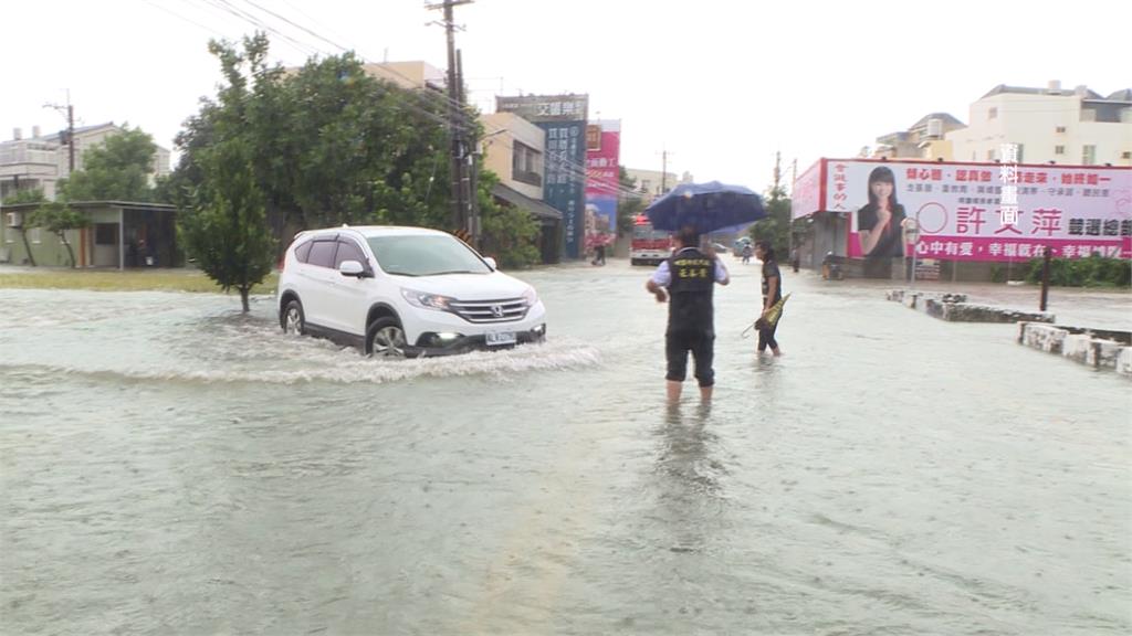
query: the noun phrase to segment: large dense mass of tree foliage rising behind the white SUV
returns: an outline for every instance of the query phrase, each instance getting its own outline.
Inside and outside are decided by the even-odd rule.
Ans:
[[[443,100],[367,75],[352,53],[285,71],[268,66],[267,45],[263,34],[242,50],[211,44],[225,86],[178,136],[183,154],[166,196],[183,200],[201,182],[201,153],[239,121],[277,238],[342,223],[447,227]]]

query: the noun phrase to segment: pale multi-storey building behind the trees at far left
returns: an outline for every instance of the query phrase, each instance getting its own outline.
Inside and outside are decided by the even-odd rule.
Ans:
[[[75,170],[83,170],[86,151],[105,143],[106,138],[122,132],[113,122],[75,129]],[[12,139],[0,143],[0,200],[17,190],[42,189],[49,199],[55,198],[55,184],[70,175],[70,147],[65,143],[65,131],[41,135],[40,127],[32,128],[32,136],[24,138],[19,128]],[[170,153],[157,146],[151,167],[151,184],[158,177],[170,173]]]

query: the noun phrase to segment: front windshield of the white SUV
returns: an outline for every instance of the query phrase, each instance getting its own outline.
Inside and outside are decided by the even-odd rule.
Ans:
[[[468,246],[437,234],[370,237],[367,239],[386,274],[490,274],[491,269]]]

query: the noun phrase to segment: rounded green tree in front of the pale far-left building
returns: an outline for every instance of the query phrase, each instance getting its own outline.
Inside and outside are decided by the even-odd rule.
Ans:
[[[121,134],[83,153],[83,170],[60,182],[65,198],[72,201],[153,199],[149,173],[157,146],[139,128]]]

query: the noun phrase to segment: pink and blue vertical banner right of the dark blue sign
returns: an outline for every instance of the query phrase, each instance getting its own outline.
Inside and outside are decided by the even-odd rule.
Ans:
[[[592,250],[598,246],[612,244],[617,239],[620,120],[603,120],[588,126],[585,146],[584,248]]]

